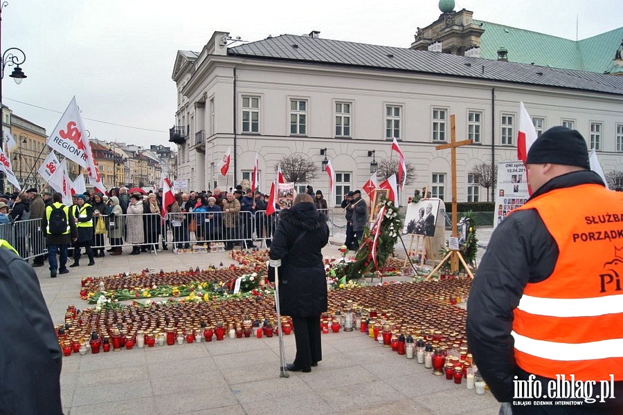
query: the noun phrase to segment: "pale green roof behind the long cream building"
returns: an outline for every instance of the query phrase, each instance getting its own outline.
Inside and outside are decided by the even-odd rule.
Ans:
[[[509,62],[604,73],[613,69],[613,58],[623,39],[623,27],[579,41],[473,20],[485,29],[480,37],[480,57],[498,59],[498,48],[508,50]]]

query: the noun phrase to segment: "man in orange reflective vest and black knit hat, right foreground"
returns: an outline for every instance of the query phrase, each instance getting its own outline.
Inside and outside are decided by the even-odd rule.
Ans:
[[[525,164],[534,194],[491,235],[471,286],[473,360],[500,413],[623,414],[623,193],[565,127]]]

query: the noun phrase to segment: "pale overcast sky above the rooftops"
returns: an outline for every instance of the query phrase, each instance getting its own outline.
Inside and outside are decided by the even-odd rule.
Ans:
[[[50,133],[75,95],[91,138],[145,147],[172,145],[177,50],[200,51],[215,30],[249,42],[320,30],[325,39],[408,48],[416,28],[440,15],[436,0],[8,3],[1,48],[24,50],[28,79],[16,85],[7,67],[3,104]],[[456,1],[461,8],[474,19],[567,39],[576,39],[576,21],[585,39],[620,27],[623,15],[621,0]]]

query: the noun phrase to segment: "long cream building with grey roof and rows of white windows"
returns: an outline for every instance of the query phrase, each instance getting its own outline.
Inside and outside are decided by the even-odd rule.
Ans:
[[[268,192],[275,166],[289,154],[318,165],[311,183],[329,205],[370,178],[370,151],[394,157],[397,138],[415,178],[401,192],[428,186],[451,200],[450,151],[436,145],[472,139],[457,149],[458,201],[486,201],[470,171],[480,163],[516,160],[518,103],[538,132],[566,124],[595,148],[604,172],[623,169],[623,77],[556,70],[422,50],[282,35],[227,48],[216,32],[201,53],[179,51],[179,179],[193,190],[232,187],[250,178],[260,160],[260,190]],[[228,147],[228,176],[217,169]],[[327,151],[321,150],[327,149]],[[336,170],[329,196],[325,155]],[[491,192],[491,190],[489,190]],[[489,197],[489,200],[491,197]]]

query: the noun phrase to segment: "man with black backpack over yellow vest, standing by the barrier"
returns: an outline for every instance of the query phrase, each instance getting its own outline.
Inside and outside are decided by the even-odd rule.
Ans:
[[[67,269],[67,249],[71,241],[78,239],[78,228],[73,219],[73,209],[63,205],[62,194],[52,195],[53,203],[46,208],[43,218],[43,229],[48,242],[48,262],[50,277],[56,277],[57,270],[61,274],[69,273]],[[80,249],[80,248],[78,248]],[[60,255],[60,264],[56,255]]]

